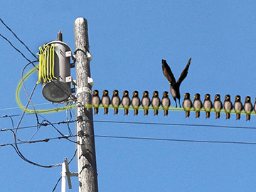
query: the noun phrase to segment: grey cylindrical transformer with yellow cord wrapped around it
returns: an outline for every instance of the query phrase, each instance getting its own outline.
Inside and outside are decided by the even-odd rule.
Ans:
[[[56,41],[40,48],[38,83],[43,83],[43,97],[50,102],[63,102],[71,95],[71,48],[62,41],[59,31]]]

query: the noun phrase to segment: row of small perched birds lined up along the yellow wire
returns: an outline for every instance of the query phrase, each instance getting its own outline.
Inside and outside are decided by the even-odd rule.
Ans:
[[[184,100],[182,106],[183,110],[186,112],[185,117],[190,117],[192,108],[196,112],[196,118],[200,117],[200,112],[202,109],[206,112],[206,118],[210,118],[210,112],[214,110],[216,113],[216,119],[220,118],[220,112],[222,112],[223,108],[224,112],[226,113],[226,119],[230,119],[230,113],[232,113],[233,110],[236,113],[236,119],[240,119],[240,114],[244,110],[246,114],[246,120],[250,120],[250,115],[253,110],[256,112],[256,98],[255,105],[253,106],[250,96],[245,97],[245,103],[242,105],[240,95],[235,96],[234,103],[231,102],[230,95],[225,95],[224,102],[221,102],[219,94],[215,95],[213,102],[210,100],[210,94],[205,95],[205,100],[203,102],[201,101],[201,95],[199,93],[196,93],[196,95],[193,96],[193,102],[191,101],[191,95],[188,92],[183,95]],[[122,99],[119,97],[118,90],[113,91],[112,99],[110,99],[108,90],[103,91],[102,98],[100,98],[98,90],[93,91],[92,107],[95,109],[94,114],[98,114],[100,106],[104,108],[104,114],[108,114],[110,106],[114,108],[114,114],[118,114],[118,110],[121,104],[122,108],[124,108],[124,115],[129,113],[129,108],[131,105],[132,109],[134,110],[134,115],[138,115],[140,106],[142,105],[144,115],[148,115],[149,110],[153,109],[154,115],[158,115],[159,110],[164,110],[164,116],[167,116],[171,106],[171,100],[169,98],[169,92],[167,91],[163,92],[163,97],[161,99],[159,97],[158,91],[153,92],[153,97],[151,99],[149,97],[149,92],[144,91],[142,100],[139,98],[138,91],[134,91],[132,93],[132,100],[130,99],[129,92],[127,90],[124,90]]]

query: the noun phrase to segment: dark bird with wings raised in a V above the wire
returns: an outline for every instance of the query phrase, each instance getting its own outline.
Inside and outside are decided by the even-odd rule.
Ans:
[[[169,84],[171,85],[171,96],[174,98],[174,101],[176,103],[176,107],[177,107],[177,102],[176,102],[176,98],[178,99],[178,103],[181,107],[181,95],[180,95],[180,86],[181,86],[181,82],[186,78],[186,76],[188,75],[188,68],[189,65],[191,63],[191,58],[188,60],[188,63],[186,65],[186,67],[183,69],[181,76],[178,78],[177,82],[174,78],[174,74],[171,72],[171,68],[169,67],[169,65],[166,63],[166,60],[162,60],[162,68],[163,68],[163,73],[164,76],[166,77],[167,80],[169,80]]]

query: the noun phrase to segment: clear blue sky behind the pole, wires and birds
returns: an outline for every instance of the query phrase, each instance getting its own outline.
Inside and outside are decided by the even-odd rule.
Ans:
[[[114,89],[122,93],[134,90],[142,97],[144,90],[150,97],[154,90],[160,95],[169,91],[169,84],[161,71],[161,59],[166,59],[176,80],[189,58],[191,67],[181,84],[181,93],[196,92],[211,99],[219,93],[241,95],[242,102],[250,95],[255,102],[255,52],[256,14],[255,1],[4,1],[0,17],[33,51],[56,38],[63,31],[63,41],[75,50],[73,22],[84,17],[88,22],[90,63],[93,89]],[[29,59],[21,43],[3,25],[0,33],[11,41]],[[21,79],[25,60],[7,41],[0,38],[1,46],[1,105],[0,115],[21,114],[16,104],[16,87]],[[30,67],[32,68],[32,66]],[[29,69],[29,68],[28,68]],[[27,71],[27,70],[26,70]],[[75,78],[75,69],[71,70]],[[36,83],[36,74],[26,81],[28,92]],[[112,94],[111,94],[112,96]],[[36,109],[48,109],[63,105],[51,105],[41,95],[41,85],[33,95]],[[21,101],[26,95],[21,92]],[[181,102],[183,96],[181,97]],[[171,106],[174,100],[171,98]],[[11,108],[11,110],[9,110]],[[74,110],[73,110],[74,111]],[[144,117],[134,117],[133,112],[124,117],[103,115],[100,110],[94,116],[97,121],[145,122],[171,124],[200,124],[230,127],[255,127],[256,117],[250,122],[245,115],[229,120],[225,114],[215,119],[195,119],[195,112],[185,118],[185,112],[163,112],[154,117],[149,112]],[[66,119],[65,112],[42,114],[50,122]],[[19,118],[14,118],[14,126]],[[73,114],[73,119],[75,115]],[[40,117],[42,120],[43,118]],[[1,129],[11,128],[8,118],[0,118]],[[21,127],[36,125],[34,115],[25,115]],[[66,124],[57,126],[68,134]],[[150,137],[165,139],[190,139],[203,141],[256,142],[253,129],[227,129],[225,127],[164,126],[152,124],[113,124],[95,122],[95,134],[124,137]],[[75,134],[75,124],[70,124]],[[36,127],[21,129],[18,138],[28,140]],[[41,127],[33,139],[58,137],[52,127]],[[72,138],[73,139],[73,138]],[[13,143],[11,132],[0,132],[0,144]],[[196,142],[164,142],[139,139],[95,138],[98,185],[100,191],[254,191],[255,145],[211,144]],[[19,149],[26,158],[38,164],[62,163],[70,160],[75,144],[64,139],[48,143],[22,144]],[[23,161],[11,146],[0,146],[2,191],[52,191],[60,177],[61,167],[43,169]],[[77,171],[76,160],[70,163],[70,171]],[[73,189],[78,191],[78,179],[72,178]],[[60,191],[60,184],[56,188]]]

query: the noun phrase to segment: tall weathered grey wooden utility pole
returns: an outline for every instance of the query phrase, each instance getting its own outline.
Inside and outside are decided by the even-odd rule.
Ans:
[[[78,181],[80,192],[97,192],[97,168],[95,156],[95,138],[93,129],[92,108],[84,105],[92,104],[92,86],[90,78],[89,42],[87,21],[85,18],[76,18],[74,22],[75,35],[75,63],[77,84],[77,107],[75,124],[78,134]]]

